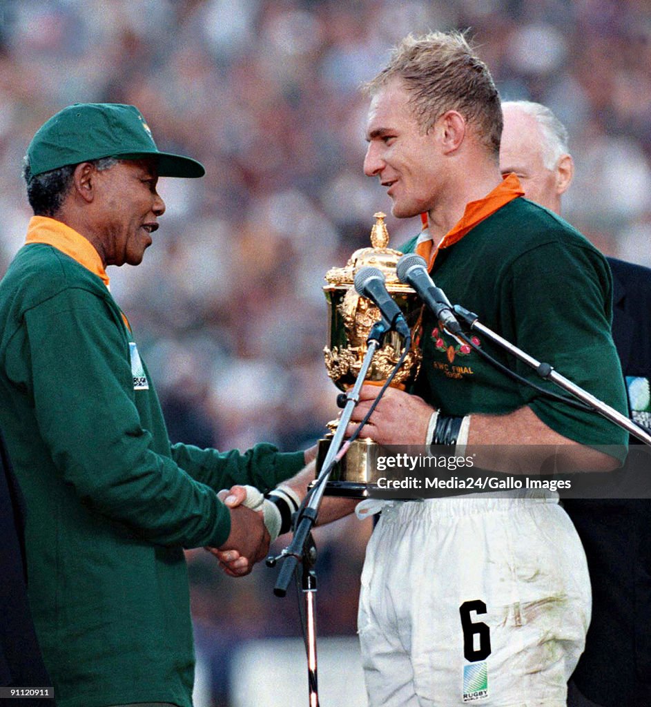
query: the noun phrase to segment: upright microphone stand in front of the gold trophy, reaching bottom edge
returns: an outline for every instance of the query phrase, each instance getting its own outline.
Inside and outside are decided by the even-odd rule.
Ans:
[[[359,402],[359,392],[370,368],[375,351],[382,345],[382,339],[392,326],[384,319],[375,322],[368,335],[366,353],[364,355],[360,372],[357,375],[355,385],[346,392],[346,406],[341,413],[339,424],[328,448],[327,455],[322,464],[322,472],[315,484],[315,489],[310,496],[307,506],[300,512],[298,518],[294,520],[294,534],[292,542],[281,551],[276,557],[269,557],[266,565],[274,567],[276,563],[283,560],[283,566],[278,573],[274,594],[276,597],[284,597],[287,588],[295,572],[298,563],[303,564],[301,587],[305,597],[305,617],[307,622],[307,638],[305,648],[307,650],[307,684],[309,689],[310,707],[319,707],[319,694],[317,686],[317,616],[316,616],[316,592],[317,574],[314,571],[317,559],[317,548],[312,539],[311,530],[317,522],[319,506],[325,491],[325,485],[330,477],[330,472],[334,464],[341,457],[344,457],[350,444],[344,443],[346,427],[353,414],[353,409]]]

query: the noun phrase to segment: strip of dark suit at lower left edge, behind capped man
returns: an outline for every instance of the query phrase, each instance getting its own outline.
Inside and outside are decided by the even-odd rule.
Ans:
[[[27,597],[25,506],[0,436],[0,686],[47,687]],[[53,707],[52,699],[11,699],[15,707]]]

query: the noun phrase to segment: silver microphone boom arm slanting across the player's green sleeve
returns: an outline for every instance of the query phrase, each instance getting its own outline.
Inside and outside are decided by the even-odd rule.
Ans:
[[[483,337],[493,341],[493,344],[501,346],[503,349],[508,351],[508,353],[512,354],[516,358],[519,358],[523,363],[526,363],[527,366],[531,366],[531,368],[533,368],[541,378],[544,378],[544,380],[551,380],[551,382],[556,383],[558,387],[561,387],[563,390],[571,393],[574,397],[580,399],[580,401],[587,404],[606,419],[609,419],[611,422],[614,422],[619,427],[625,429],[628,433],[631,433],[645,444],[651,445],[651,435],[643,430],[643,428],[636,425],[631,419],[628,419],[626,415],[621,414],[621,412],[614,409],[614,407],[610,407],[610,405],[607,405],[598,398],[594,397],[594,395],[591,395],[587,392],[587,390],[584,390],[568,378],[565,378],[564,375],[557,373],[556,370],[549,365],[549,363],[541,363],[540,361],[536,361],[535,358],[529,356],[529,354],[526,354],[522,351],[522,349],[518,349],[517,346],[511,344],[510,341],[503,339],[503,337],[500,337],[499,334],[496,334],[491,329],[488,329],[488,327],[479,322],[479,316],[474,312],[469,312],[461,305],[454,305],[453,309],[457,317],[464,320],[472,331],[481,333]]]

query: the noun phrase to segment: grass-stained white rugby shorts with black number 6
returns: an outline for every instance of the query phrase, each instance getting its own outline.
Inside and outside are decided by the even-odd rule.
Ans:
[[[592,602],[556,498],[387,506],[361,581],[370,707],[565,707]]]

